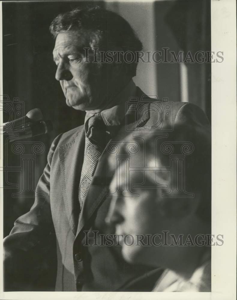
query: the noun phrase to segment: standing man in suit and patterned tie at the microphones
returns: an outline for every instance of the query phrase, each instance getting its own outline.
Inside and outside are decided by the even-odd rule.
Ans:
[[[5,290],[152,290],[161,268],[126,263],[121,248],[101,246],[95,232],[113,233],[104,221],[115,172],[108,164],[107,144],[123,140],[135,128],[152,127],[158,115],[147,96],[143,113],[126,106],[129,98],[144,100],[132,80],[136,62],[94,61],[84,51],[136,52],[142,44],[127,21],[101,8],[59,15],[50,30],[55,78],[66,104],[86,112],[85,124],[55,138],[36,188],[45,197],[36,195],[31,210],[4,239]],[[102,52],[96,53],[98,58]],[[174,103],[167,116],[161,118],[164,125],[208,122],[202,110],[187,103]],[[89,247],[85,232],[96,241]],[[129,282],[134,284],[125,288]]]

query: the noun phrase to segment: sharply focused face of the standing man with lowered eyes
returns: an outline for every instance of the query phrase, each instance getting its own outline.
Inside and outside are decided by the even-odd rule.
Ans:
[[[103,108],[107,85],[106,67],[85,62],[83,48],[90,48],[88,36],[76,31],[59,33],[53,50],[55,78],[60,81],[66,104],[83,111]]]

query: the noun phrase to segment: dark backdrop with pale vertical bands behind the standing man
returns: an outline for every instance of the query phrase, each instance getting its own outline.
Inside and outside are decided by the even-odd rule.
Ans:
[[[38,107],[53,122],[50,134],[28,141],[41,142],[45,150],[35,155],[35,182],[46,165],[46,155],[54,137],[83,124],[84,113],[65,104],[55,80],[52,61],[54,41],[49,33],[52,19],[67,10],[99,4],[121,14],[130,22],[144,50],[169,47],[174,51],[210,50],[210,2],[178,0],[130,1],[52,1],[3,2],[3,93],[10,101],[24,103],[22,115]],[[170,101],[188,101],[201,107],[211,119],[211,64],[139,64],[134,81],[149,95]],[[3,111],[4,122],[8,113]],[[25,145],[31,150],[31,145]],[[21,157],[8,145],[4,148],[4,235],[14,220],[31,207],[34,198],[13,196],[21,189]],[[14,185],[15,184],[15,185]],[[14,186],[13,186],[14,185]]]

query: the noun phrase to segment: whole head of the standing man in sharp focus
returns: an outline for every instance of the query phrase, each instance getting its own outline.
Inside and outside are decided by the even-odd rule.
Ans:
[[[76,8],[58,15],[50,32],[55,38],[55,78],[66,104],[95,113],[110,108],[111,99],[136,75],[136,61],[127,62],[129,53],[142,49],[129,23],[100,7]],[[118,51],[128,52],[127,61]]]

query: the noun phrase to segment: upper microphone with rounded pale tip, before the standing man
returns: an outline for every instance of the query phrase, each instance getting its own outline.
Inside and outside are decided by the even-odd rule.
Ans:
[[[3,123],[3,130],[14,130],[15,128],[18,128],[19,126],[22,127],[29,122],[41,121],[42,119],[43,115],[41,110],[39,108],[34,108],[33,110],[30,110],[24,117]]]

